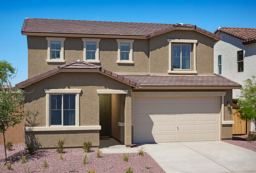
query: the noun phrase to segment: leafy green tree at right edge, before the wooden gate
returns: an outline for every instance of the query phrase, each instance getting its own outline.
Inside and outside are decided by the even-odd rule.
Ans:
[[[238,112],[241,120],[251,121],[256,127],[256,77],[251,78],[243,81]]]

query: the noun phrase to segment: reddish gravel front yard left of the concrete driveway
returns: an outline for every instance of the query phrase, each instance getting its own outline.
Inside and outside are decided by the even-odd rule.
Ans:
[[[122,161],[122,154],[101,154],[102,158],[96,157],[96,149],[92,149],[87,155],[87,165],[83,165],[85,152],[82,149],[66,150],[62,155],[64,160],[59,160],[59,154],[55,150],[36,151],[32,156],[24,149],[24,143],[13,145],[12,151],[6,151],[9,160],[12,160],[13,170],[7,170],[4,166],[4,145],[0,145],[0,173],[25,173],[24,167],[28,169],[28,163],[32,167],[31,173],[87,173],[88,169],[96,173],[125,173],[124,169],[132,168],[134,173],[165,173],[158,163],[147,153],[139,156],[130,153],[128,162]],[[21,153],[27,156],[26,163],[20,162]],[[48,168],[43,168],[43,160],[47,161]],[[145,168],[146,164],[152,166]],[[27,171],[28,172],[28,171]]]

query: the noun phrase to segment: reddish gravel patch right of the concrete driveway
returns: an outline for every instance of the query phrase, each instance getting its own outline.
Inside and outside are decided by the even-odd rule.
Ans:
[[[223,140],[223,142],[237,145],[239,147],[250,149],[250,150],[256,152],[256,141],[252,141],[252,142],[246,141],[247,136],[248,136],[247,134],[246,135],[237,135],[237,136],[233,136],[232,140]]]

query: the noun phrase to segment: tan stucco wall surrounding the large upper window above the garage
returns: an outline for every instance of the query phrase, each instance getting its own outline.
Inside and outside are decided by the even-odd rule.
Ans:
[[[196,69],[198,75],[213,75],[213,39],[197,31],[175,30],[150,38],[150,74],[167,74],[169,70],[169,42],[167,39],[198,40]],[[193,44],[191,44],[191,49]],[[191,52],[191,70],[193,52]]]

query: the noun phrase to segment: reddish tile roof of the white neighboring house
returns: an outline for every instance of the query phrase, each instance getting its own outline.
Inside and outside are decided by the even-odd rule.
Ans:
[[[229,28],[219,27],[214,33],[223,32],[238,39],[243,40],[243,44],[256,42],[256,28]]]

